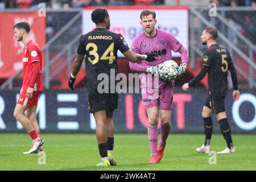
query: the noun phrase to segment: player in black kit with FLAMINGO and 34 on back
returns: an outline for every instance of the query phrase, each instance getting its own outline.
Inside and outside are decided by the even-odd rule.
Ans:
[[[102,93],[102,90],[98,89],[98,84],[101,82],[101,80],[97,79],[98,75],[104,73],[103,75],[108,76],[109,82],[111,82],[110,75],[117,75],[118,49],[125,55],[126,59],[133,62],[142,60],[154,61],[155,55],[154,53],[139,55],[130,51],[125,38],[121,34],[109,31],[110,18],[106,9],[98,8],[94,10],[92,12],[92,21],[96,24],[96,28],[80,38],[68,85],[73,90],[76,75],[86,55],[88,105],[90,113],[93,113],[96,120],[98,148],[102,158],[102,162],[96,166],[115,166],[116,163],[113,160],[113,111],[117,109],[118,94],[115,91],[114,93],[110,92],[110,87],[107,92]]]

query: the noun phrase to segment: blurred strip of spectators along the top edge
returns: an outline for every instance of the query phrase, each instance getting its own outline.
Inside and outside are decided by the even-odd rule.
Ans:
[[[47,9],[69,9],[86,6],[136,6],[136,5],[175,5],[173,0],[1,0],[1,9],[35,9],[39,3],[45,3]],[[256,7],[256,0],[204,0],[189,1],[191,6],[204,6],[207,3],[216,3],[217,6],[251,6]]]

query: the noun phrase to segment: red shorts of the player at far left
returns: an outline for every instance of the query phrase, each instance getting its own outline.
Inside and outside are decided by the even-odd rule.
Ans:
[[[24,89],[23,92],[19,96],[19,100],[18,100],[17,104],[27,106],[27,107],[33,107],[35,105],[38,105],[38,99],[39,99],[39,95],[41,92],[42,91],[34,91],[32,94],[32,98],[28,99],[26,97],[27,90]]]

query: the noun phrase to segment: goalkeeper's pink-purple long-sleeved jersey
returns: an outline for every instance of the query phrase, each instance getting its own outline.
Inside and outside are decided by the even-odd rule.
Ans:
[[[146,34],[142,32],[133,40],[133,43],[131,44],[131,50],[133,52],[139,53],[141,55],[152,52],[157,55],[156,60],[153,62],[147,62],[143,60],[138,63],[129,63],[131,70],[143,72],[143,74],[140,73],[139,75],[141,80],[141,88],[155,88],[155,86],[152,85],[156,85],[155,82],[157,82],[156,79],[158,79],[155,77],[152,78],[152,83],[146,81],[146,67],[156,66],[166,60],[172,60],[171,50],[177,52],[181,47],[183,47],[183,45],[174,37],[174,35],[172,35],[170,32],[160,29],[156,29],[156,35],[153,38],[147,37]],[[166,86],[174,86],[174,81],[166,82],[159,80],[159,88],[164,88]]]

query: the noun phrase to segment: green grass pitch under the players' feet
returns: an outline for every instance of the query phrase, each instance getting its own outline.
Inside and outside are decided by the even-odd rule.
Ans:
[[[204,134],[170,134],[164,157],[158,164],[147,164],[150,148],[146,134],[116,134],[115,167],[96,167],[101,158],[95,134],[42,134],[46,164],[38,154],[24,155],[30,148],[27,134],[0,133],[0,170],[255,170],[256,135],[233,135],[236,154],[217,155],[209,164],[208,154],[197,154]],[[212,150],[226,147],[220,134],[212,136]]]

